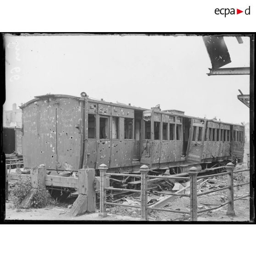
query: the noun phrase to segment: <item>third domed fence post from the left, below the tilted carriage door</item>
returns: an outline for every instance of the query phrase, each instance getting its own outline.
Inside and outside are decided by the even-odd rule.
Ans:
[[[189,169],[190,178],[190,221],[197,221],[197,169]]]

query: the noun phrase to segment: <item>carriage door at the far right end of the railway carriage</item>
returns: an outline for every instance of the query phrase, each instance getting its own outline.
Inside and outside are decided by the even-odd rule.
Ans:
[[[231,134],[232,134],[231,156],[233,156],[234,158],[243,158],[244,144],[245,144],[244,127],[233,125]]]

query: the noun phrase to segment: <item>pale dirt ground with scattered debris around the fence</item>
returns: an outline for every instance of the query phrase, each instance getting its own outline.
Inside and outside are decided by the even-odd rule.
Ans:
[[[246,153],[249,153],[249,148],[245,147],[244,162],[247,162]],[[238,165],[236,169],[247,168],[247,164]],[[234,174],[234,185],[238,183],[244,183],[250,181],[249,171],[243,173]],[[207,191],[208,189],[217,189],[227,184],[227,177],[217,176],[216,178],[210,178],[204,183],[198,185],[198,193]],[[234,188],[234,198],[249,195],[249,184]],[[154,203],[166,195],[154,195],[148,194],[148,204]],[[122,199],[116,201],[117,203],[124,204],[140,204],[139,194],[127,195]],[[221,205],[227,200],[227,191],[217,191],[208,195],[202,195],[198,197],[198,211],[209,209]],[[168,203],[165,209],[173,209],[180,211],[190,210],[190,200],[188,197],[173,197],[173,200]],[[68,204],[61,204],[61,206],[48,206],[41,209],[17,209],[13,206],[12,202],[6,201],[6,220],[76,220],[76,221],[139,221],[140,209],[131,207],[114,206],[107,208],[108,216],[100,218],[98,210],[95,213],[84,214],[79,217],[69,216],[70,208]],[[231,222],[245,222],[250,221],[250,200],[249,196],[234,201],[234,217],[228,217],[226,215],[227,205],[216,210],[206,211],[198,214],[198,221],[231,221]],[[189,215],[164,211],[149,211],[149,221],[189,221]]]

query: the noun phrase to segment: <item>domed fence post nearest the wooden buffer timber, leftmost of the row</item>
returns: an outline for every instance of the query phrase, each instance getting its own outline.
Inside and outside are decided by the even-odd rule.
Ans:
[[[99,217],[106,217],[106,172],[107,172],[106,164],[101,164],[99,166],[100,170],[100,212]]]

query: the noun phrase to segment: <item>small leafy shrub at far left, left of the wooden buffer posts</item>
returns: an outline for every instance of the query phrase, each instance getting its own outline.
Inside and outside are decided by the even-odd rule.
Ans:
[[[14,206],[19,206],[28,191],[31,189],[30,175],[28,177],[22,178],[21,174],[18,177],[18,181],[12,187],[10,192],[10,199],[12,200]]]

